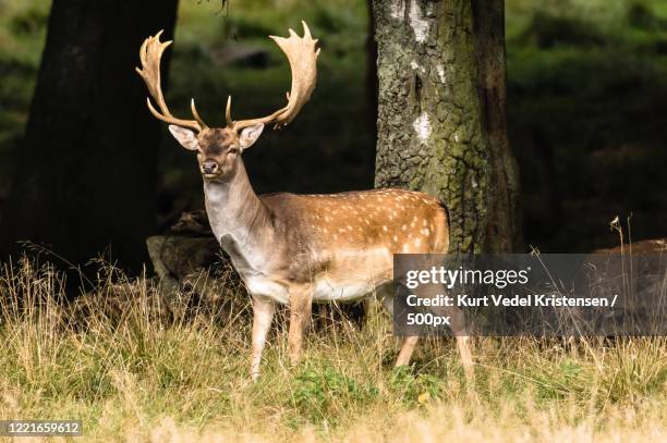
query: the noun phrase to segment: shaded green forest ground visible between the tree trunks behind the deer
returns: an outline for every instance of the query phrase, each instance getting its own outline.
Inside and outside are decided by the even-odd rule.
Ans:
[[[0,0],[0,213],[20,156],[49,1]],[[320,38],[318,85],[298,121],[244,156],[258,193],[373,186],[375,136],[366,88],[368,14],[361,0],[181,0],[168,100],[205,120],[265,114],[289,87],[267,35]],[[506,2],[508,121],[522,182],[526,244],[542,251],[614,245],[608,222],[631,217],[636,239],[667,220],[667,0]],[[256,57],[239,57],[240,52]],[[248,52],[250,51],[250,52]],[[132,71],[133,66],[129,66]],[[140,82],[137,77],[137,82]],[[201,209],[193,159],[165,130],[157,183],[161,229]],[[660,220],[663,222],[660,222]]]

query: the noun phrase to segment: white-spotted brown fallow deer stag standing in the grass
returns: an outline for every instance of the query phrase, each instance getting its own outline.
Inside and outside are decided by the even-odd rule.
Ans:
[[[232,120],[231,97],[225,127],[208,127],[194,100],[194,120],[173,116],[160,88],[160,59],[171,44],[160,41],[161,32],[145,40],[140,52],[142,69],[136,69],[159,108],[147,99],[153,115],[170,123],[175,139],[196,152],[211,230],[252,295],[253,379],[259,376],[276,303],[290,307],[288,342],[294,362],[300,358],[313,302],[357,300],[375,293],[391,312],[392,254],[444,254],[449,246],[447,211],[426,194],[402,189],[331,195],[254,193],[241,153],[257,140],[264,125],[280,128],[289,124],[315,88],[319,49],[302,23],[303,37],[292,29],[289,38],[270,37],[289,60],[292,86],[287,104],[259,119]],[[452,329],[470,371],[462,321]],[[416,342],[416,336],[403,341],[397,366],[410,361]]]

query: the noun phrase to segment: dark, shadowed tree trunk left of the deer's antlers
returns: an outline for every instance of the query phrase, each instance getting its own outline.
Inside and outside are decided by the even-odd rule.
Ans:
[[[54,0],[0,251],[44,244],[74,263],[106,249],[131,269],[155,225],[158,122],[134,72],[178,0]]]

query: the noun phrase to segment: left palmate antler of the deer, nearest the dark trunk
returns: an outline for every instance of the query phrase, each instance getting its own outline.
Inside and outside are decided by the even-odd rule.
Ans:
[[[165,49],[172,44],[172,41],[160,41],[160,36],[162,32],[160,30],[155,35],[155,37],[148,37],[144,40],[142,45],[142,49],[140,49],[140,59],[142,61],[142,69],[135,67],[136,72],[142,76],[144,83],[148,87],[148,91],[154,100],[157,102],[160,108],[161,113],[158,112],[150,102],[150,98],[146,98],[146,102],[148,103],[148,109],[157,119],[175,124],[179,126],[190,127],[197,132],[206,128],[206,123],[199,116],[195,104],[194,99],[191,101],[190,106],[192,109],[192,114],[195,120],[182,120],[177,119],[169,112],[169,108],[167,107],[167,102],[165,101],[165,97],[162,96],[162,89],[160,86],[160,61],[162,59],[162,52]]]

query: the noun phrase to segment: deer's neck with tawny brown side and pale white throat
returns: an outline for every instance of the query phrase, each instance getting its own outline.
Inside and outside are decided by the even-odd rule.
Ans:
[[[220,246],[231,257],[239,272],[259,272],[274,227],[268,209],[255,194],[243,160],[227,182],[204,181],[206,213]]]

